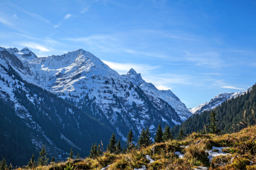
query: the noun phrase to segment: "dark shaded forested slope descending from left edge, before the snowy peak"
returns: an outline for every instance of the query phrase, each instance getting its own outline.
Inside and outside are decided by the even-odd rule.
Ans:
[[[7,50],[0,52],[1,160],[5,157],[13,165],[27,164],[43,145],[49,156],[60,160],[67,158],[71,148],[86,156],[92,143],[102,141],[106,146],[113,129],[23,80],[18,69],[26,67],[19,61]]]

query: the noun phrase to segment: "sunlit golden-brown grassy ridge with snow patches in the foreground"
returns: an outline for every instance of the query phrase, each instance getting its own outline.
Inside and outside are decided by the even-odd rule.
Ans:
[[[165,143],[156,144],[163,148],[152,153],[151,145],[139,150],[130,150],[126,154],[110,154],[104,152],[96,159],[86,158],[81,162],[73,163],[75,160],[67,160],[61,163],[51,163],[47,166],[36,167],[36,169],[101,169],[110,165],[108,169],[134,169],[146,165],[147,169],[192,169],[198,166],[208,167],[209,169],[256,169],[256,126],[250,126],[238,133],[224,135],[202,135],[193,133],[182,141],[172,140]],[[188,146],[181,148],[180,146]],[[213,146],[229,147],[223,151],[229,156],[216,156],[209,163],[205,150],[211,150]],[[179,159],[174,154],[180,151],[184,154],[183,159]],[[148,165],[149,161],[145,158],[150,155],[155,160]],[[249,165],[251,162],[253,164]],[[224,163],[221,167],[220,163]],[[19,168],[20,169],[20,168]]]

